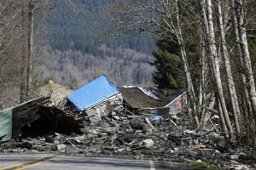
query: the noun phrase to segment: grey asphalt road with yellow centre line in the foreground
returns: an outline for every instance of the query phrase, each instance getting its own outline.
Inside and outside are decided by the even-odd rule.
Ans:
[[[181,167],[182,166],[182,167]],[[0,155],[0,170],[7,169],[73,169],[73,170],[170,170],[188,169],[181,164],[159,161],[123,160],[115,158],[56,156],[56,155]]]

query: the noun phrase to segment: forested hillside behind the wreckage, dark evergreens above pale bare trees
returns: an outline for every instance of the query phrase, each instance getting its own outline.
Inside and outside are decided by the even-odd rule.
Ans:
[[[105,74],[118,86],[154,85],[154,69],[148,65],[153,59],[154,37],[143,32],[107,39],[104,36],[107,21],[100,19],[100,3],[98,0],[75,3],[58,0],[55,8],[36,15],[39,21],[43,14],[43,27],[47,28],[44,48],[47,47],[48,52],[43,52],[43,63],[38,61],[42,54],[36,54],[34,62],[35,70],[41,72],[37,75],[41,84],[51,78],[76,89]],[[45,71],[48,73],[44,74]]]

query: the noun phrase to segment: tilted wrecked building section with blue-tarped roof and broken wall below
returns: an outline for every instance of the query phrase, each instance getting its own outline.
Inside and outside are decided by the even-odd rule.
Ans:
[[[88,116],[95,116],[90,121],[98,121],[102,114],[108,113],[108,105],[119,105],[122,96],[119,88],[115,87],[108,77],[98,77],[84,87],[79,88],[67,96],[67,106],[70,103],[79,112],[86,112]]]

